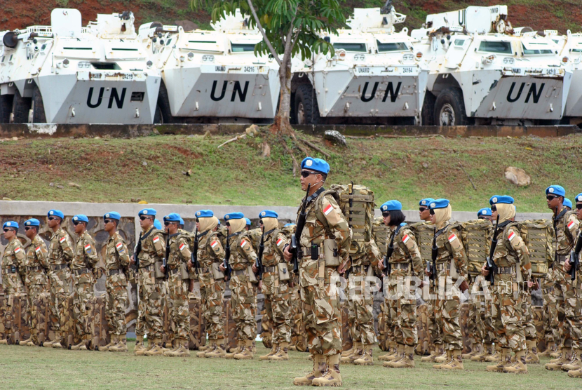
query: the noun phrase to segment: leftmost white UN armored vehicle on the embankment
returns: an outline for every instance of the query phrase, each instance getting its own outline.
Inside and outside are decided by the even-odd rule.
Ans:
[[[160,76],[133,13],[97,15],[88,27],[75,9],[50,18],[50,27],[2,34],[0,121],[153,123]]]

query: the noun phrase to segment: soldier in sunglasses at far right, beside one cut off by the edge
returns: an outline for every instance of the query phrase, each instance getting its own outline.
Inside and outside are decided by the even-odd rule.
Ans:
[[[558,321],[563,323],[560,356],[546,364],[548,370],[577,370],[582,367],[579,356],[582,353],[582,288],[579,280],[571,280],[565,266],[565,263],[569,262],[571,250],[578,236],[579,222],[576,213],[564,207],[565,195],[564,188],[558,185],[546,189],[548,208],[554,213],[552,220],[556,234],[553,262],[554,292]]]

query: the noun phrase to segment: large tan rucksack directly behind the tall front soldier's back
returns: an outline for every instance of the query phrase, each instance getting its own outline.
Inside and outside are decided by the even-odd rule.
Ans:
[[[357,259],[366,254],[366,243],[372,239],[374,191],[359,184],[333,184],[330,189],[337,192],[339,208],[351,227],[350,256]],[[350,194],[350,191],[353,191],[353,194]]]

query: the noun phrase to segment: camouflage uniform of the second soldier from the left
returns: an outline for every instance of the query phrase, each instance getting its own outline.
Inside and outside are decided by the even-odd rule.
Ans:
[[[47,335],[47,330],[45,329],[45,323],[38,321],[37,306],[39,305],[39,300],[41,299],[41,294],[48,292],[47,290],[47,277],[46,271],[41,266],[41,261],[46,262],[46,255],[48,250],[46,250],[46,244],[43,239],[36,235],[30,243],[27,249],[27,256],[24,262],[26,269],[25,285],[27,289],[27,300],[28,300],[28,312],[30,316],[30,335],[32,337],[32,342],[39,345],[41,341],[39,335],[42,333],[44,336]]]

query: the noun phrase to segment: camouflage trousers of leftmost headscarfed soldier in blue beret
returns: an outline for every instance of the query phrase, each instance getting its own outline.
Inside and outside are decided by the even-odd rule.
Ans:
[[[208,339],[224,338],[224,281],[215,280],[214,283],[200,285],[202,298],[202,316],[206,324]]]

